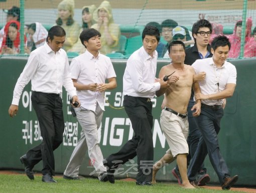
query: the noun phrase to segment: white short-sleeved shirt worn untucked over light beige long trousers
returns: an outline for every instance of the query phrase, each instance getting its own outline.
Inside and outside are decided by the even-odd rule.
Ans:
[[[70,69],[71,78],[80,84],[105,83],[107,78],[116,77],[109,57],[99,53],[95,58],[88,50],[72,59]],[[77,95],[82,107],[95,111],[98,102],[104,110],[104,92],[77,90]]]

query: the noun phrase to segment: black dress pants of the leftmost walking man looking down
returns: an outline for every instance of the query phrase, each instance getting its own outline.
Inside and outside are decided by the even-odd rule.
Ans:
[[[55,175],[53,151],[62,143],[65,127],[62,99],[59,94],[33,91],[31,100],[43,140],[41,144],[28,150],[27,158],[33,167],[43,160],[42,174]]]

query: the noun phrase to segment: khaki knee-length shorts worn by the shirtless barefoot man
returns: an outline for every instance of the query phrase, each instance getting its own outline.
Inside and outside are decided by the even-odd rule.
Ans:
[[[166,152],[173,154],[188,154],[188,117],[181,118],[172,112],[162,110],[160,124],[170,149]]]

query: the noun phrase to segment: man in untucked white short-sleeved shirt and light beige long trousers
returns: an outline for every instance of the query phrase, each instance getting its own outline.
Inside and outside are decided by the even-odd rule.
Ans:
[[[104,91],[116,87],[116,75],[110,58],[99,53],[100,36],[100,32],[94,28],[84,29],[80,34],[80,40],[86,51],[74,57],[70,64],[71,78],[81,102],[81,106],[75,108],[75,112],[82,130],[64,171],[65,179],[79,179],[79,167],[88,150],[99,180],[107,180],[106,168],[102,162],[103,155],[98,143],[98,128],[104,111]],[[108,83],[105,83],[106,79]]]

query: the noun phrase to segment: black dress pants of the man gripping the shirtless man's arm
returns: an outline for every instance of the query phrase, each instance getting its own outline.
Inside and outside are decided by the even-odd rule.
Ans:
[[[106,158],[107,164],[117,168],[137,155],[137,181],[151,181],[154,159],[152,102],[144,97],[125,95],[123,105],[135,135],[118,152]]]

